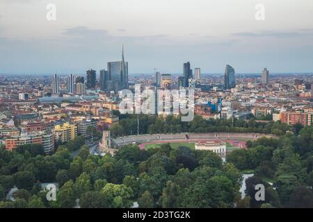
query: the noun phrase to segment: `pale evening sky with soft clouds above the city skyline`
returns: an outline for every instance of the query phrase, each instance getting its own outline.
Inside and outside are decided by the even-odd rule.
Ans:
[[[130,74],[313,72],[313,1],[0,0],[0,73],[99,74],[122,44]]]

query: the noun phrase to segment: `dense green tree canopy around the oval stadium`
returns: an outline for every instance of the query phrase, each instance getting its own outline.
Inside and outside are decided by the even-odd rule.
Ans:
[[[132,207],[134,202],[139,207],[313,207],[312,127],[297,126],[291,130],[295,134],[286,134],[290,126],[282,123],[234,121],[233,127],[225,120],[195,117],[190,123],[180,123],[175,117],[143,117],[147,124],[141,126],[141,133],[248,128],[261,133],[277,130],[283,135],[247,142],[248,148],[228,153],[226,162],[211,151],[170,144],[147,151],[127,145],[113,156],[90,155],[81,137],[61,144],[48,156],[40,153],[39,146],[15,151],[1,147],[0,207]],[[131,123],[122,120],[122,124]],[[78,155],[71,156],[78,148]],[[254,176],[246,180],[246,198],[241,199],[239,189],[246,170]],[[47,200],[47,191],[40,186],[44,182],[58,182],[56,200]],[[259,183],[265,185],[264,201],[255,200]],[[7,200],[13,187],[18,189],[15,200]]]

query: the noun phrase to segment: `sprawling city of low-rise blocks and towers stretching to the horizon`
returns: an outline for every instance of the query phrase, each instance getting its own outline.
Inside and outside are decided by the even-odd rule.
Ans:
[[[110,128],[119,124],[113,113],[119,110],[120,90],[134,92],[136,83],[155,93],[157,115],[179,114],[172,112],[172,103],[180,102],[179,98],[162,100],[166,89],[194,89],[194,112],[203,119],[253,117],[257,121],[312,126],[312,74],[269,77],[267,68],[260,74],[243,75],[235,74],[230,65],[226,65],[223,75],[202,74],[198,67],[191,69],[190,62],[184,63],[180,75],[156,71],[153,76],[129,76],[124,49],[121,61],[108,62],[107,68],[99,71],[99,80],[93,69],[85,76],[54,74],[52,84],[51,76],[0,76],[0,144],[8,150],[23,144],[41,144],[49,154],[54,152],[55,144],[78,135],[90,137],[88,128],[92,126],[105,132],[101,145],[105,146]],[[134,96],[136,101],[135,92]],[[159,104],[168,102],[170,109],[159,109]]]

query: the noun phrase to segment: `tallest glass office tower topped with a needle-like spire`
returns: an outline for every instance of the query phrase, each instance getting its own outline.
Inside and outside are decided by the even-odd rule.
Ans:
[[[124,47],[122,48],[122,61],[108,62],[109,84],[115,92],[128,88],[128,62],[125,62]]]

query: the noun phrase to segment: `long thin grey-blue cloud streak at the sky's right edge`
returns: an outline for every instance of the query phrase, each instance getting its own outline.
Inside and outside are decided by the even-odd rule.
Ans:
[[[242,33],[232,33],[232,35],[241,36],[241,37],[299,37],[305,35],[313,35],[310,33],[312,30],[310,29],[302,29],[300,31],[264,31],[261,33],[250,33],[250,32],[242,32]]]

